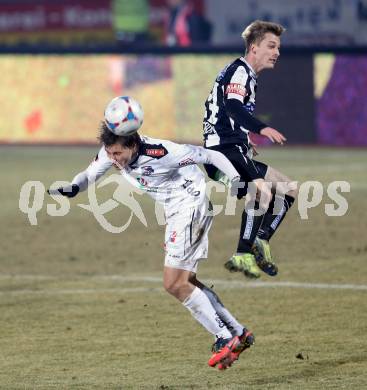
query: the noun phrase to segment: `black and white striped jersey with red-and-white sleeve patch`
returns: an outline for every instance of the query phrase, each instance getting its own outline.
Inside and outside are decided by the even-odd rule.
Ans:
[[[205,102],[205,147],[229,143],[248,144],[249,129],[240,126],[228,115],[225,102],[227,99],[237,99],[253,115],[256,88],[256,73],[244,57],[237,58],[218,74]]]

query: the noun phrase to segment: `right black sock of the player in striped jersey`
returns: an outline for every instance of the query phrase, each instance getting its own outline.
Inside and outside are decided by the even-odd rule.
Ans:
[[[274,209],[275,202],[277,202],[276,210]],[[268,211],[264,215],[264,219],[257,236],[263,240],[269,241],[276,230],[279,228],[279,225],[282,223],[285,215],[293,203],[293,196],[285,195],[283,197],[273,195]],[[281,207],[279,207],[279,205],[281,205]]]

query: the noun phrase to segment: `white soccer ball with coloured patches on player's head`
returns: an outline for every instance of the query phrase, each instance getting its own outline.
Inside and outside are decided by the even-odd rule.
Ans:
[[[143,123],[144,111],[141,105],[130,96],[118,96],[112,99],[104,112],[104,120],[112,133],[131,135],[139,130]]]

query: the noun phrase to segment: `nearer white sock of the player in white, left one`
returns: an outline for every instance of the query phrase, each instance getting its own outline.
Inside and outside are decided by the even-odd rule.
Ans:
[[[232,338],[231,332],[220,319],[209,298],[200,288],[195,287],[190,296],[182,304],[190,311],[196,321],[217,338]]]

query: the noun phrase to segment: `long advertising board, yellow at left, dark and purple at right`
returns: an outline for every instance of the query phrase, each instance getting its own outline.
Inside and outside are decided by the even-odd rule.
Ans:
[[[235,57],[1,56],[0,142],[96,143],[106,104],[130,95],[142,133],[200,144],[204,102]],[[367,145],[366,75],[367,56],[284,55],[260,74],[256,115],[290,144]]]

